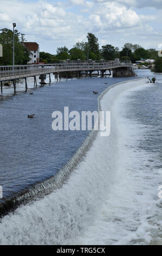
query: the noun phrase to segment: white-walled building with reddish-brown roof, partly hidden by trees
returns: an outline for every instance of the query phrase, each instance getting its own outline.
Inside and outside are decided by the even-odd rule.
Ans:
[[[28,64],[39,64],[39,45],[36,42],[24,42],[24,46],[30,52]]]

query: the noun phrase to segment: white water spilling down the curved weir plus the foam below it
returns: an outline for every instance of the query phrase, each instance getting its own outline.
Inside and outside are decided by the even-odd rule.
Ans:
[[[124,109],[121,93],[139,84],[143,88],[144,80],[109,90],[101,106],[111,110],[111,135],[98,134],[63,187],[5,216],[0,224],[1,244],[151,241],[150,230],[157,231],[153,220],[160,209],[155,207],[156,203],[160,205],[156,183],[159,173],[145,172],[149,156],[134,147],[144,130],[128,124],[119,112]]]

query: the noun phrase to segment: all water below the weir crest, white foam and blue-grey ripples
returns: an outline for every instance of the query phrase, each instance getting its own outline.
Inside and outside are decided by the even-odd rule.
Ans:
[[[97,135],[62,187],[3,217],[1,244],[162,243],[162,86],[145,81],[108,90],[110,136]]]

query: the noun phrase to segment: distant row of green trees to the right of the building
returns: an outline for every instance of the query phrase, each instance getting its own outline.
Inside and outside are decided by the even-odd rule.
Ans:
[[[136,62],[141,59],[155,59],[158,55],[157,50],[151,48],[145,50],[138,44],[126,43],[123,45],[120,51],[118,47],[113,45],[103,45],[99,49],[98,38],[92,33],[87,35],[88,42],[77,42],[73,45],[73,48],[68,50],[66,46],[58,47],[57,54],[52,55],[49,53],[41,52],[41,60],[47,60],[47,62],[59,61],[59,60],[113,60],[115,58],[120,58],[121,60],[132,60]]]

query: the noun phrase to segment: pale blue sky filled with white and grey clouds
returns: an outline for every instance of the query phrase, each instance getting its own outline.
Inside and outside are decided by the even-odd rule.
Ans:
[[[120,49],[125,42],[145,48],[162,44],[162,0],[0,0],[0,28],[26,34],[40,51],[56,54],[87,41],[88,32],[99,46]]]

